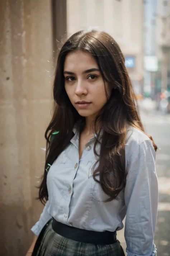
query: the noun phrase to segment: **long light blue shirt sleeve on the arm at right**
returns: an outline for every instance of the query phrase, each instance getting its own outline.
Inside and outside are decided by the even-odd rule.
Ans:
[[[135,149],[127,165],[124,236],[127,256],[156,256],[154,233],[158,207],[156,152],[151,140]]]

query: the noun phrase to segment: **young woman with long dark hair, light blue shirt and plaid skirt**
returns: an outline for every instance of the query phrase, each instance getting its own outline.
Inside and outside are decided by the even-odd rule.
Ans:
[[[47,157],[32,231],[36,256],[155,256],[156,145],[145,134],[123,54],[105,32],[80,31],[63,45],[46,130]],[[32,249],[34,247],[34,250]]]

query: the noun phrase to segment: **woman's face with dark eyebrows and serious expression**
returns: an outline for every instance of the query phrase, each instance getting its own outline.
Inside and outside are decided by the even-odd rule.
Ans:
[[[65,90],[80,116],[96,116],[110,98],[111,89],[104,81],[92,55],[83,51],[67,54],[64,63]]]

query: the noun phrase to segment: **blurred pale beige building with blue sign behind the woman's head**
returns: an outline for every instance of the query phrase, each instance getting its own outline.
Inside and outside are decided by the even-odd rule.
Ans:
[[[104,30],[118,42],[137,94],[143,85],[143,0],[67,0],[67,33],[89,27]]]

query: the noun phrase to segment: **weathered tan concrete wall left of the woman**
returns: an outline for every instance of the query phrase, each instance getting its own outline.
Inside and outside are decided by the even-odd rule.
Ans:
[[[53,80],[51,1],[0,1],[0,255],[27,251],[42,206]]]

